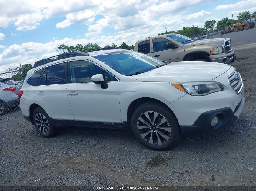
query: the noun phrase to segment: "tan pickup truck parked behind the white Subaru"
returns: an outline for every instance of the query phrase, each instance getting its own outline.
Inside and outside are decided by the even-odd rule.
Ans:
[[[230,64],[236,59],[229,38],[192,40],[180,34],[164,34],[139,40],[134,51],[164,61],[209,61]]]

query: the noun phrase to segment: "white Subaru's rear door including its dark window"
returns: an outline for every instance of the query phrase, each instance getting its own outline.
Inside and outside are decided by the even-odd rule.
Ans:
[[[35,100],[52,119],[74,120],[67,96],[67,62],[48,66],[35,88]]]

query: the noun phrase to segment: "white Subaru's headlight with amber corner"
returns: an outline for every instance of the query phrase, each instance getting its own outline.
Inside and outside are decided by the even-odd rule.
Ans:
[[[208,95],[217,91],[224,90],[223,86],[218,82],[189,82],[189,83],[172,83],[172,86],[193,96]]]

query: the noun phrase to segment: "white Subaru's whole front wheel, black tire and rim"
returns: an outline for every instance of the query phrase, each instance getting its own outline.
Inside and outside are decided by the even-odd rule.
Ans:
[[[143,145],[155,150],[170,149],[181,138],[175,115],[168,107],[155,102],[143,103],[134,111],[131,127]]]

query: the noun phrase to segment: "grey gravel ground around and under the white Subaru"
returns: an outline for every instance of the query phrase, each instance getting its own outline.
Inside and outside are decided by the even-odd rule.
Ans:
[[[255,53],[238,50],[232,64],[245,84],[241,118],[216,132],[183,136],[169,151],[150,150],[113,129],[62,127],[44,138],[19,109],[0,116],[0,186],[255,186]]]

